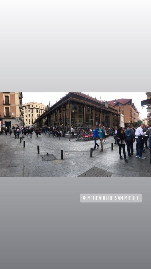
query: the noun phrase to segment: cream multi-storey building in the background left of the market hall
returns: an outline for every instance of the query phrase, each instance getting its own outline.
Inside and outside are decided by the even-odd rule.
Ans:
[[[45,105],[42,103],[30,102],[23,104],[23,120],[25,126],[32,127],[37,117],[45,112]]]

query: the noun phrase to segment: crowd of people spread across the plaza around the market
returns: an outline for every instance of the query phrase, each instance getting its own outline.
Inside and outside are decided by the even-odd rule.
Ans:
[[[31,138],[32,139],[32,135],[33,132],[36,133],[36,137],[38,137],[38,135],[41,135],[41,133],[47,133],[48,132],[50,134],[52,134],[53,136],[60,136],[60,137],[64,137],[65,136],[65,129],[61,128],[58,129],[56,128],[56,126],[50,126],[50,127],[42,127],[42,128],[37,128],[37,127],[19,127],[17,126],[15,128],[17,134],[22,134],[23,137],[26,135],[27,138]],[[131,127],[131,124],[128,123],[127,124],[127,128],[125,129],[124,127],[117,127],[115,126],[115,128],[106,128],[105,126],[102,126],[102,124],[99,124],[99,129],[97,129],[96,126],[93,126],[93,128],[86,128],[86,130],[84,130],[84,132],[86,134],[93,134],[93,139],[94,139],[94,148],[93,150],[97,148],[99,148],[100,146],[100,152],[103,152],[103,140],[104,143],[106,141],[107,138],[107,131],[113,131],[114,134],[114,139],[115,139],[115,143],[119,146],[119,155],[120,155],[120,159],[121,160],[125,160],[126,162],[128,162],[128,160],[126,159],[126,151],[125,151],[125,147],[127,146],[127,152],[128,152],[128,156],[131,157],[131,155],[133,155],[134,152],[134,143],[136,142],[136,157],[139,157],[140,159],[145,159],[145,157],[142,155],[142,152],[145,152],[145,148],[146,149],[151,149],[151,125],[146,126],[144,123],[139,124],[136,128]],[[2,127],[0,132],[2,134],[7,135],[7,132],[9,131],[9,134],[11,135],[12,130],[11,127],[8,128],[7,127]],[[83,130],[81,130],[80,128],[77,130],[77,135],[81,134]],[[75,130],[73,127],[71,127],[71,139],[74,139],[74,133]],[[97,143],[97,139],[99,139],[100,141],[100,145]],[[149,139],[149,147],[147,146],[147,141]],[[121,155],[121,151],[123,151],[123,155],[124,158]]]

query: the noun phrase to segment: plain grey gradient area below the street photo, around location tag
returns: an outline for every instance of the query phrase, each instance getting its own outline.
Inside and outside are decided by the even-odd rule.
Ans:
[[[0,178],[2,269],[150,268],[149,178]],[[142,193],[142,203],[80,203]]]

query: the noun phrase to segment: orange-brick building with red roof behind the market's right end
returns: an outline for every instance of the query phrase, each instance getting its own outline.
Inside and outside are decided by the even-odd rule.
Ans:
[[[140,120],[140,113],[134,103],[132,103],[132,99],[115,99],[108,101],[108,104],[114,106],[116,109],[118,109],[120,114],[124,115],[125,128],[127,127],[128,123],[131,123],[133,127],[134,122]]]

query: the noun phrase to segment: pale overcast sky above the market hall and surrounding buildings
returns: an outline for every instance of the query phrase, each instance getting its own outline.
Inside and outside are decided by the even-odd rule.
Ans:
[[[67,92],[68,93],[68,92]],[[141,113],[141,119],[147,117],[146,107],[141,108],[141,101],[147,99],[145,92],[83,92],[89,94],[92,97],[96,97],[102,101],[111,101],[120,98],[132,98],[132,102],[136,106],[137,110]],[[23,92],[23,104],[29,102],[42,103],[45,106],[55,104],[61,97],[65,96],[65,92]]]

